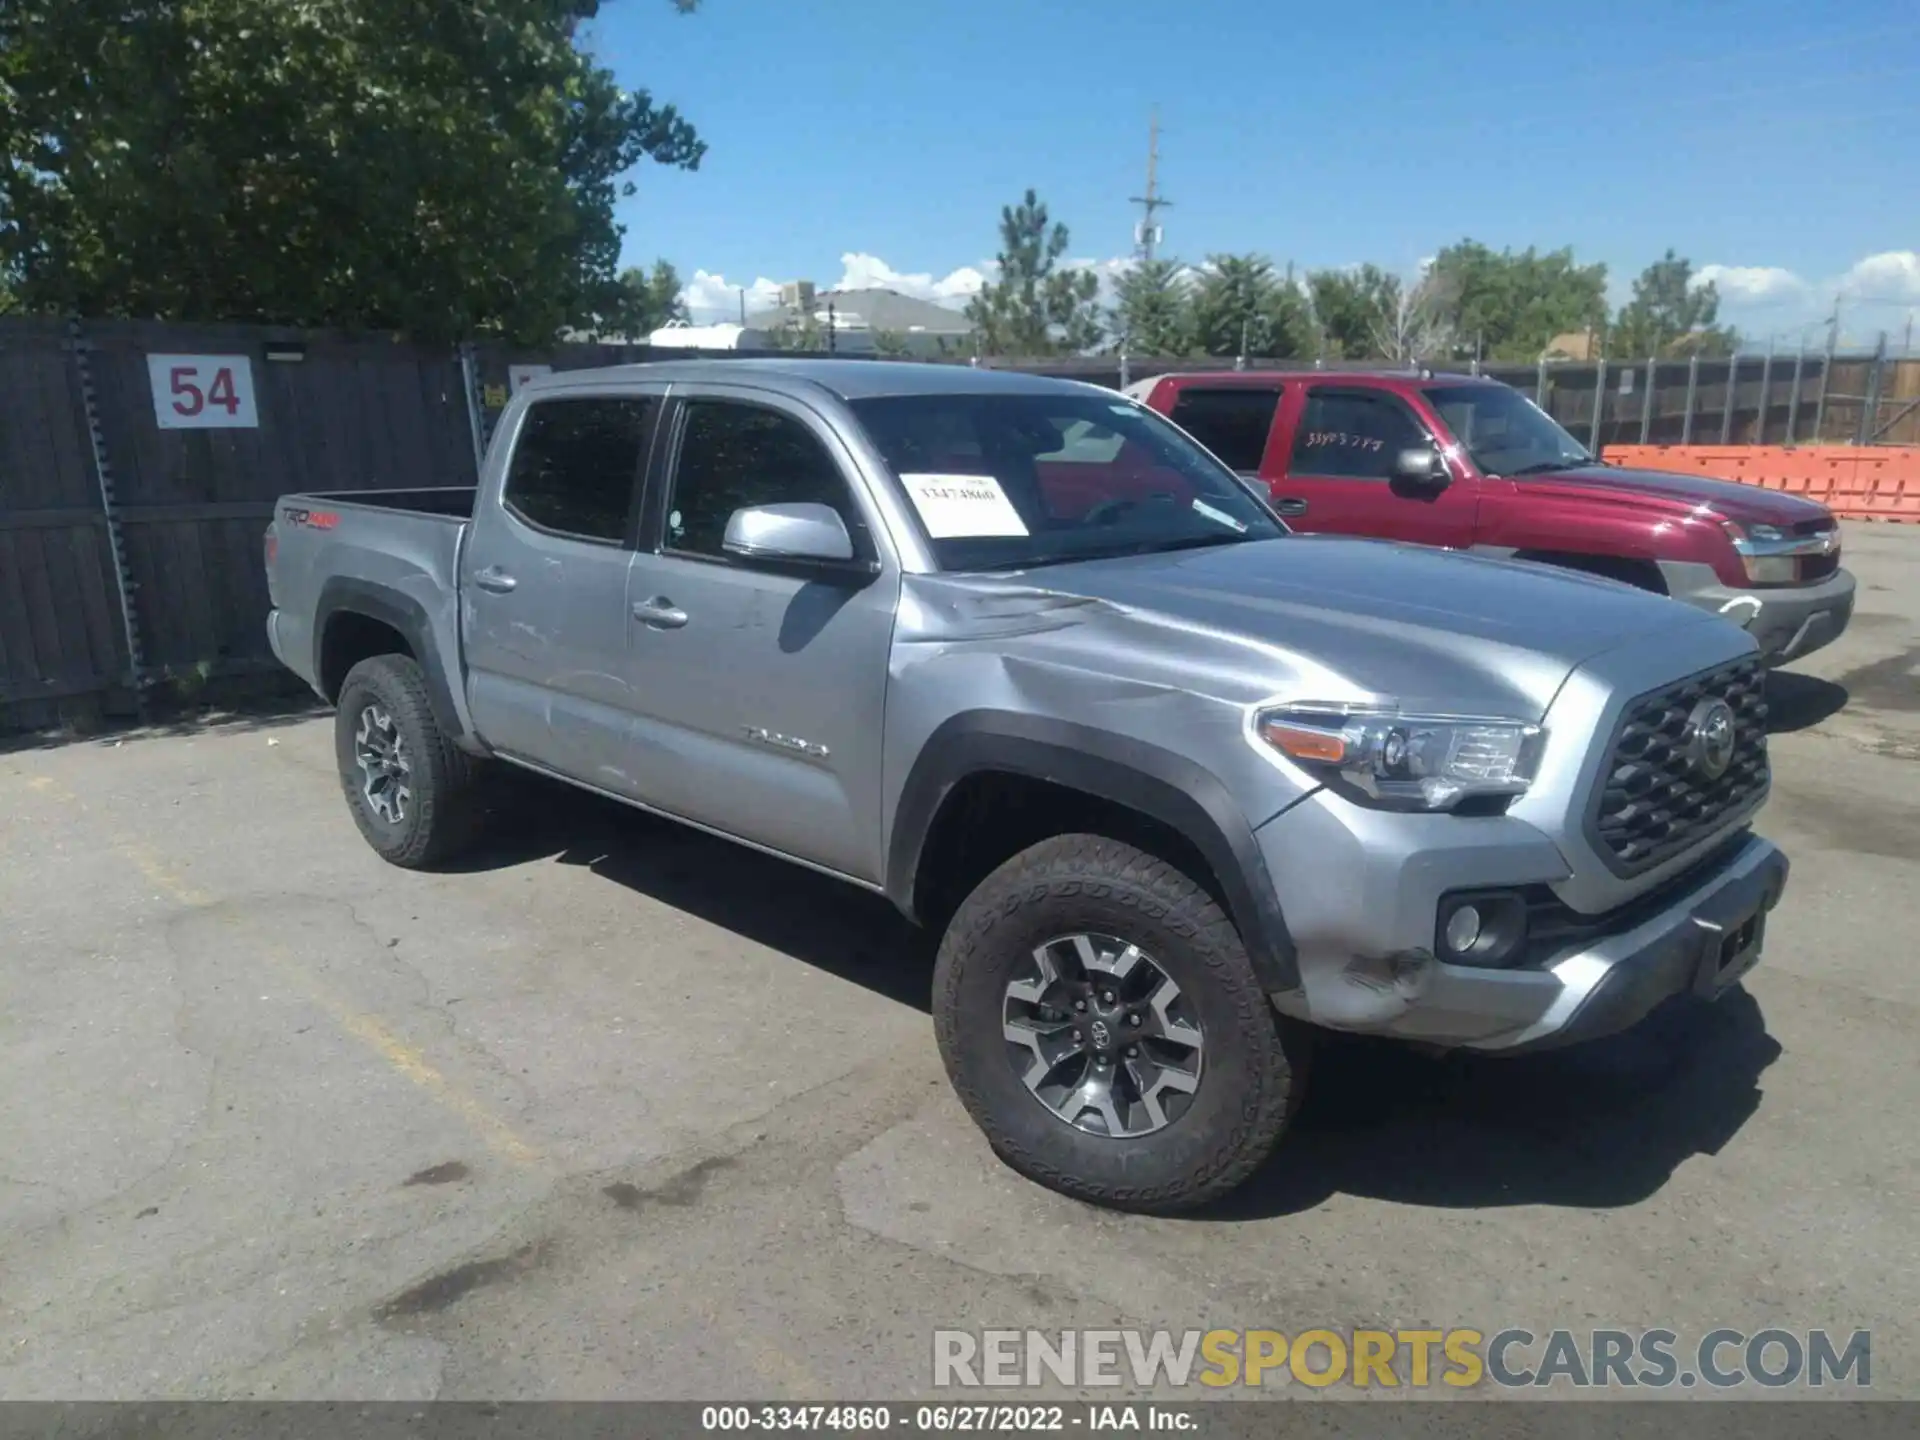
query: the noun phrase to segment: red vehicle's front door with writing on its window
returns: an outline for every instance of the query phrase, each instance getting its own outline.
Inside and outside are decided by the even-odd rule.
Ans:
[[[1478,486],[1450,465],[1444,488],[1394,478],[1404,449],[1440,442],[1390,390],[1340,382],[1296,388],[1283,405],[1284,463],[1271,480],[1273,507],[1304,532],[1377,536],[1421,545],[1473,545]]]

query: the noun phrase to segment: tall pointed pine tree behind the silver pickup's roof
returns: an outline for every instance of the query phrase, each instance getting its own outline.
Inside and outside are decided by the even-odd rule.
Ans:
[[[1068,227],[1027,190],[1000,209],[1000,267],[968,301],[983,355],[1075,355],[1100,344],[1100,276],[1060,263]]]

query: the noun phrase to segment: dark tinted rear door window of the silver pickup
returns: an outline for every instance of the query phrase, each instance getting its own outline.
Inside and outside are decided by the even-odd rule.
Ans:
[[[501,501],[536,530],[620,545],[639,486],[655,399],[541,399],[513,444]]]

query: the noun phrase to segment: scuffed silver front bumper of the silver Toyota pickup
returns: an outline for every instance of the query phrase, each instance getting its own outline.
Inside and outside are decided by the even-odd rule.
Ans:
[[[1766,912],[1788,879],[1786,854],[1745,835],[1649,895],[1580,918],[1574,939],[1532,950],[1523,966],[1461,966],[1432,950],[1440,897],[1557,881],[1567,874],[1557,847],[1503,816],[1394,816],[1404,843],[1375,866],[1361,858],[1375,843],[1342,843],[1352,835],[1342,818],[1352,820],[1309,801],[1260,831],[1271,874],[1304,879],[1281,881],[1300,989],[1273,996],[1275,1006],[1329,1029],[1448,1048],[1571,1044],[1626,1029],[1684,991],[1716,996],[1759,960]],[[1450,831],[1425,835],[1427,820]],[[1306,856],[1344,868],[1344,881],[1313,874]]]

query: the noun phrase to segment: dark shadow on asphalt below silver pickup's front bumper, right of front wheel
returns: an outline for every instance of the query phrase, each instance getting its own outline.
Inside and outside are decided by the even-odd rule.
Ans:
[[[1638,1204],[1747,1123],[1778,1056],[1738,987],[1513,1060],[1329,1037],[1273,1160],[1196,1219],[1292,1215],[1332,1194],[1440,1210]]]

